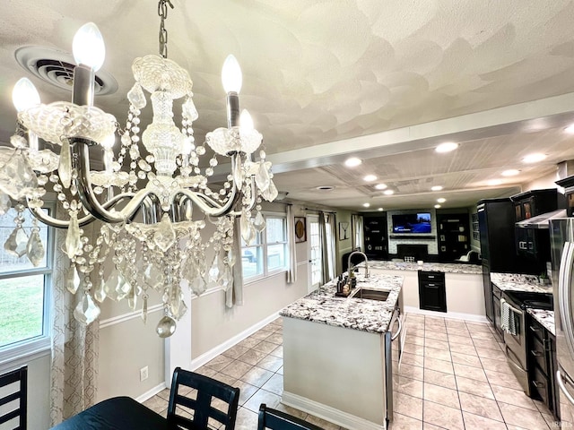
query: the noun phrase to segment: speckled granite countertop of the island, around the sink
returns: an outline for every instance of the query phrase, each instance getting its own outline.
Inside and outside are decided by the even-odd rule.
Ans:
[[[283,308],[279,314],[312,323],[382,334],[388,329],[402,287],[402,276],[373,274],[365,279],[362,274],[357,274],[357,288],[389,291],[387,300],[335,297],[335,281],[331,281]]]

